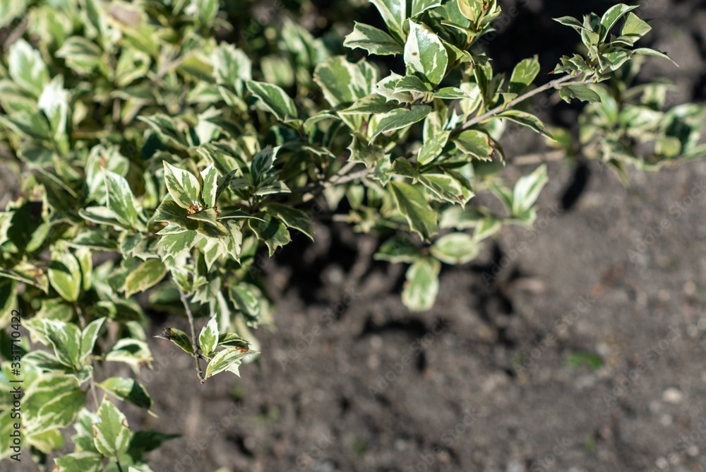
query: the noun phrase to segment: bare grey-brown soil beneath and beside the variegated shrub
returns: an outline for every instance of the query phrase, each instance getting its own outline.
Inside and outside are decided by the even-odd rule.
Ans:
[[[508,67],[539,45],[549,67],[568,43],[539,28],[613,3],[517,2],[490,54],[508,51]],[[681,68],[650,59],[642,77],[680,85],[673,103],[702,100],[705,5],[643,4],[646,45]],[[530,31],[537,42],[511,51]],[[538,150],[514,136],[508,155]],[[265,267],[276,330],[256,331],[263,355],[240,378],[201,385],[191,358],[150,338],[155,370],[138,379],[160,418],[123,410],[135,429],[183,435],[152,469],[706,471],[706,162],[631,170],[630,188],[595,162],[549,175],[534,230],[505,227],[477,260],[444,266],[429,312],[402,305],[406,266],[373,261],[377,240],[318,224],[315,244]],[[148,334],[164,326],[186,321]]]

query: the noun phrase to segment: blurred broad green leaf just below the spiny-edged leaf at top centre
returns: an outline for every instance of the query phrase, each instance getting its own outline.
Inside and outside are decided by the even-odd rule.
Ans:
[[[373,93],[378,71],[365,59],[355,64],[345,56],[330,57],[316,66],[313,78],[332,107],[349,105]]]

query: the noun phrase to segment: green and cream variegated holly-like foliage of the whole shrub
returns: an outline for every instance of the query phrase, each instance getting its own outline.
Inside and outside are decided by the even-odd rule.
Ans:
[[[409,264],[405,305],[430,309],[442,263],[472,261],[503,224],[534,223],[546,167],[505,182],[510,123],[622,175],[629,163],[653,169],[706,151],[704,107],[662,111],[670,85],[628,87],[640,57],[669,59],[634,47],[650,30],[634,6],[558,18],[584,52],[535,86],[536,56],[507,78],[481,49],[496,0],[372,3],[386,31],[355,23],[345,40],[316,38],[284,20],[263,35],[241,30],[239,48],[217,40],[228,23],[216,0],[0,1],[13,38],[0,66],[0,152],[21,182],[0,213],[0,326],[19,308],[47,348],[22,358],[23,444],[37,461],[73,425],[75,452],[56,459],[58,471],[149,471],[143,454],[171,436],[131,432],[110,398],[152,412],[150,394],[133,379],[94,378],[94,366],[149,365],[150,307],[186,312],[190,333],[157,337],[193,357],[202,383],[239,374],[258,354],[251,329],[272,323],[261,251],[313,240],[315,216],[349,208],[356,230],[385,238],[376,259]],[[404,75],[337,54],[341,40],[399,57]],[[523,108],[550,89],[590,102],[578,141]],[[505,213],[478,203],[481,193]]]

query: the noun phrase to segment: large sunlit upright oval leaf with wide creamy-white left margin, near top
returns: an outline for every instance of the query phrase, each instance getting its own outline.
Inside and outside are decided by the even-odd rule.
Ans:
[[[423,83],[436,87],[446,73],[448,55],[438,36],[428,26],[409,22],[405,43],[407,75],[417,76]]]

